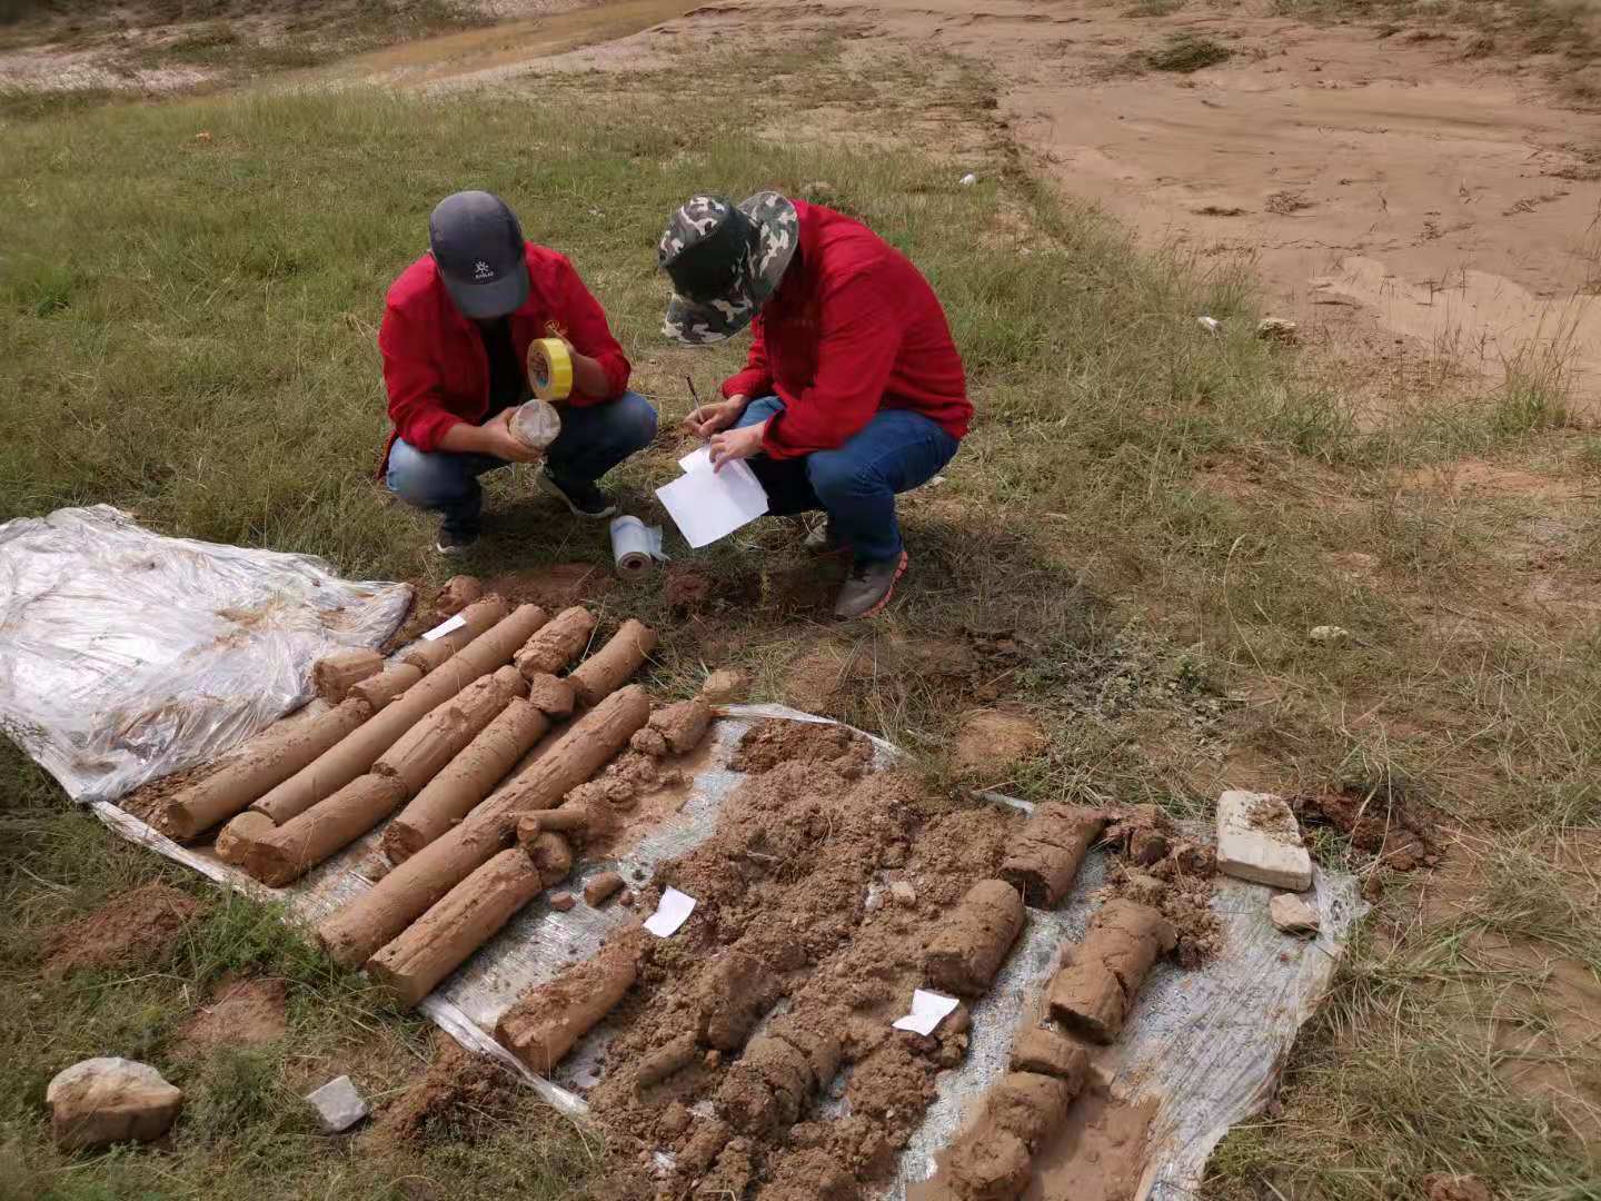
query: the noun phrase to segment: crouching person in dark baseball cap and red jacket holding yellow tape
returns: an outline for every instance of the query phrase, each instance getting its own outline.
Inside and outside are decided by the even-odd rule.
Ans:
[[[535,482],[573,512],[616,512],[596,480],[656,436],[656,410],[628,391],[629,364],[605,312],[554,250],[525,242],[511,208],[488,192],[456,192],[427,224],[429,253],[389,288],[378,347],[394,429],[384,482],[410,504],[443,514],[439,551],[479,536],[479,476],[544,460]],[[562,338],[573,391],[562,432],[535,450],[511,431],[530,396],[528,344]]]

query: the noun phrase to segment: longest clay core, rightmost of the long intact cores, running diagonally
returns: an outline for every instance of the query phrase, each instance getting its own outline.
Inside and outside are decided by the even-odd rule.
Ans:
[[[341,964],[365,962],[475,868],[506,849],[525,812],[552,809],[628,743],[650,717],[640,687],[623,689],[575,721],[509,786],[429,842],[368,892],[325,918],[317,937]]]

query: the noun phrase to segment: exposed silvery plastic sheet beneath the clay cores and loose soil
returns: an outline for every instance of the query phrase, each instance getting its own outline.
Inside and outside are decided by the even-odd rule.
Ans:
[[[728,769],[728,759],[752,721],[786,717],[829,724],[826,717],[778,705],[735,705],[720,714],[712,724],[711,754],[690,781],[682,809],[647,829],[616,858],[583,862],[564,889],[580,890],[591,876],[608,870],[620,871],[629,882],[642,882],[655,876],[663,862],[711,837],[724,801],[744,781],[743,773]],[[890,767],[900,751],[882,738],[868,737],[877,749],[874,767]],[[999,794],[985,799],[1031,809]],[[279,898],[306,924],[315,924],[370,889],[379,865],[383,828],[275,892],[218,862],[210,847],[179,847],[114,805],[94,809],[125,837],[229,887]],[[1186,833],[1210,841],[1202,826]],[[1108,855],[1092,852],[1061,906],[1028,911],[1023,934],[994,986],[972,1006],[967,1058],[938,1074],[938,1095],[901,1153],[897,1177],[881,1196],[900,1201],[909,1187],[925,1180],[933,1171],[935,1153],[949,1143],[972,1103],[1005,1071],[1012,1039],[1023,1014],[1049,983],[1058,948],[1084,935],[1100,905],[1097,894],[1105,886],[1108,863]],[[1113,1074],[1117,1099],[1156,1102],[1137,1201],[1169,1201],[1193,1191],[1207,1156],[1228,1127],[1262,1110],[1295,1033],[1322,998],[1364,908],[1351,876],[1318,871],[1308,898],[1316,898],[1322,930],[1308,942],[1273,927],[1270,897],[1270,889],[1218,876],[1212,908],[1223,924],[1222,951],[1194,970],[1169,962],[1153,969],[1122,1038],[1098,1060]],[[604,1020],[580,1039],[554,1079],[535,1076],[506,1052],[493,1038],[495,1023],[524,993],[592,956],[618,924],[632,919],[634,914],[615,905],[604,910],[580,905],[557,913],[546,895],[536,897],[419,1009],[464,1047],[500,1058],[552,1105],[581,1116],[588,1111],[584,1094],[605,1073],[613,1022]],[[828,1091],[825,1116],[845,1111],[842,1083],[836,1079]],[[660,1155],[658,1161],[666,1163]]]

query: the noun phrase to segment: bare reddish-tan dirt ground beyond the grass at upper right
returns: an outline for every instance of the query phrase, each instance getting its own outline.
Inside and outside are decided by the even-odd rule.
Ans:
[[[890,43],[969,61],[1066,194],[1148,240],[1250,258],[1274,306],[1340,354],[1399,346],[1499,378],[1556,347],[1575,410],[1601,404],[1601,115],[1563,107],[1527,64],[1465,58],[1451,38],[1314,27],[1262,3],[1148,18],[1084,0],[722,0],[538,67],[517,58],[543,46],[503,43],[429,78],[656,67],[708,45],[820,35],[861,56]],[[1193,74],[1135,61],[1175,35],[1231,56]]]

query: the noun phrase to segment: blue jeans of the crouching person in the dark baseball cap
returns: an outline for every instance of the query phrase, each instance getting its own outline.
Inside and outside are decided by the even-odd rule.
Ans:
[[[656,410],[637,392],[575,408],[562,407],[562,432],[544,455],[544,469],[557,484],[594,484],[656,436]],[[445,528],[472,528],[484,511],[479,476],[509,466],[495,455],[424,452],[403,439],[389,448],[384,484],[419,509],[445,514]]]

